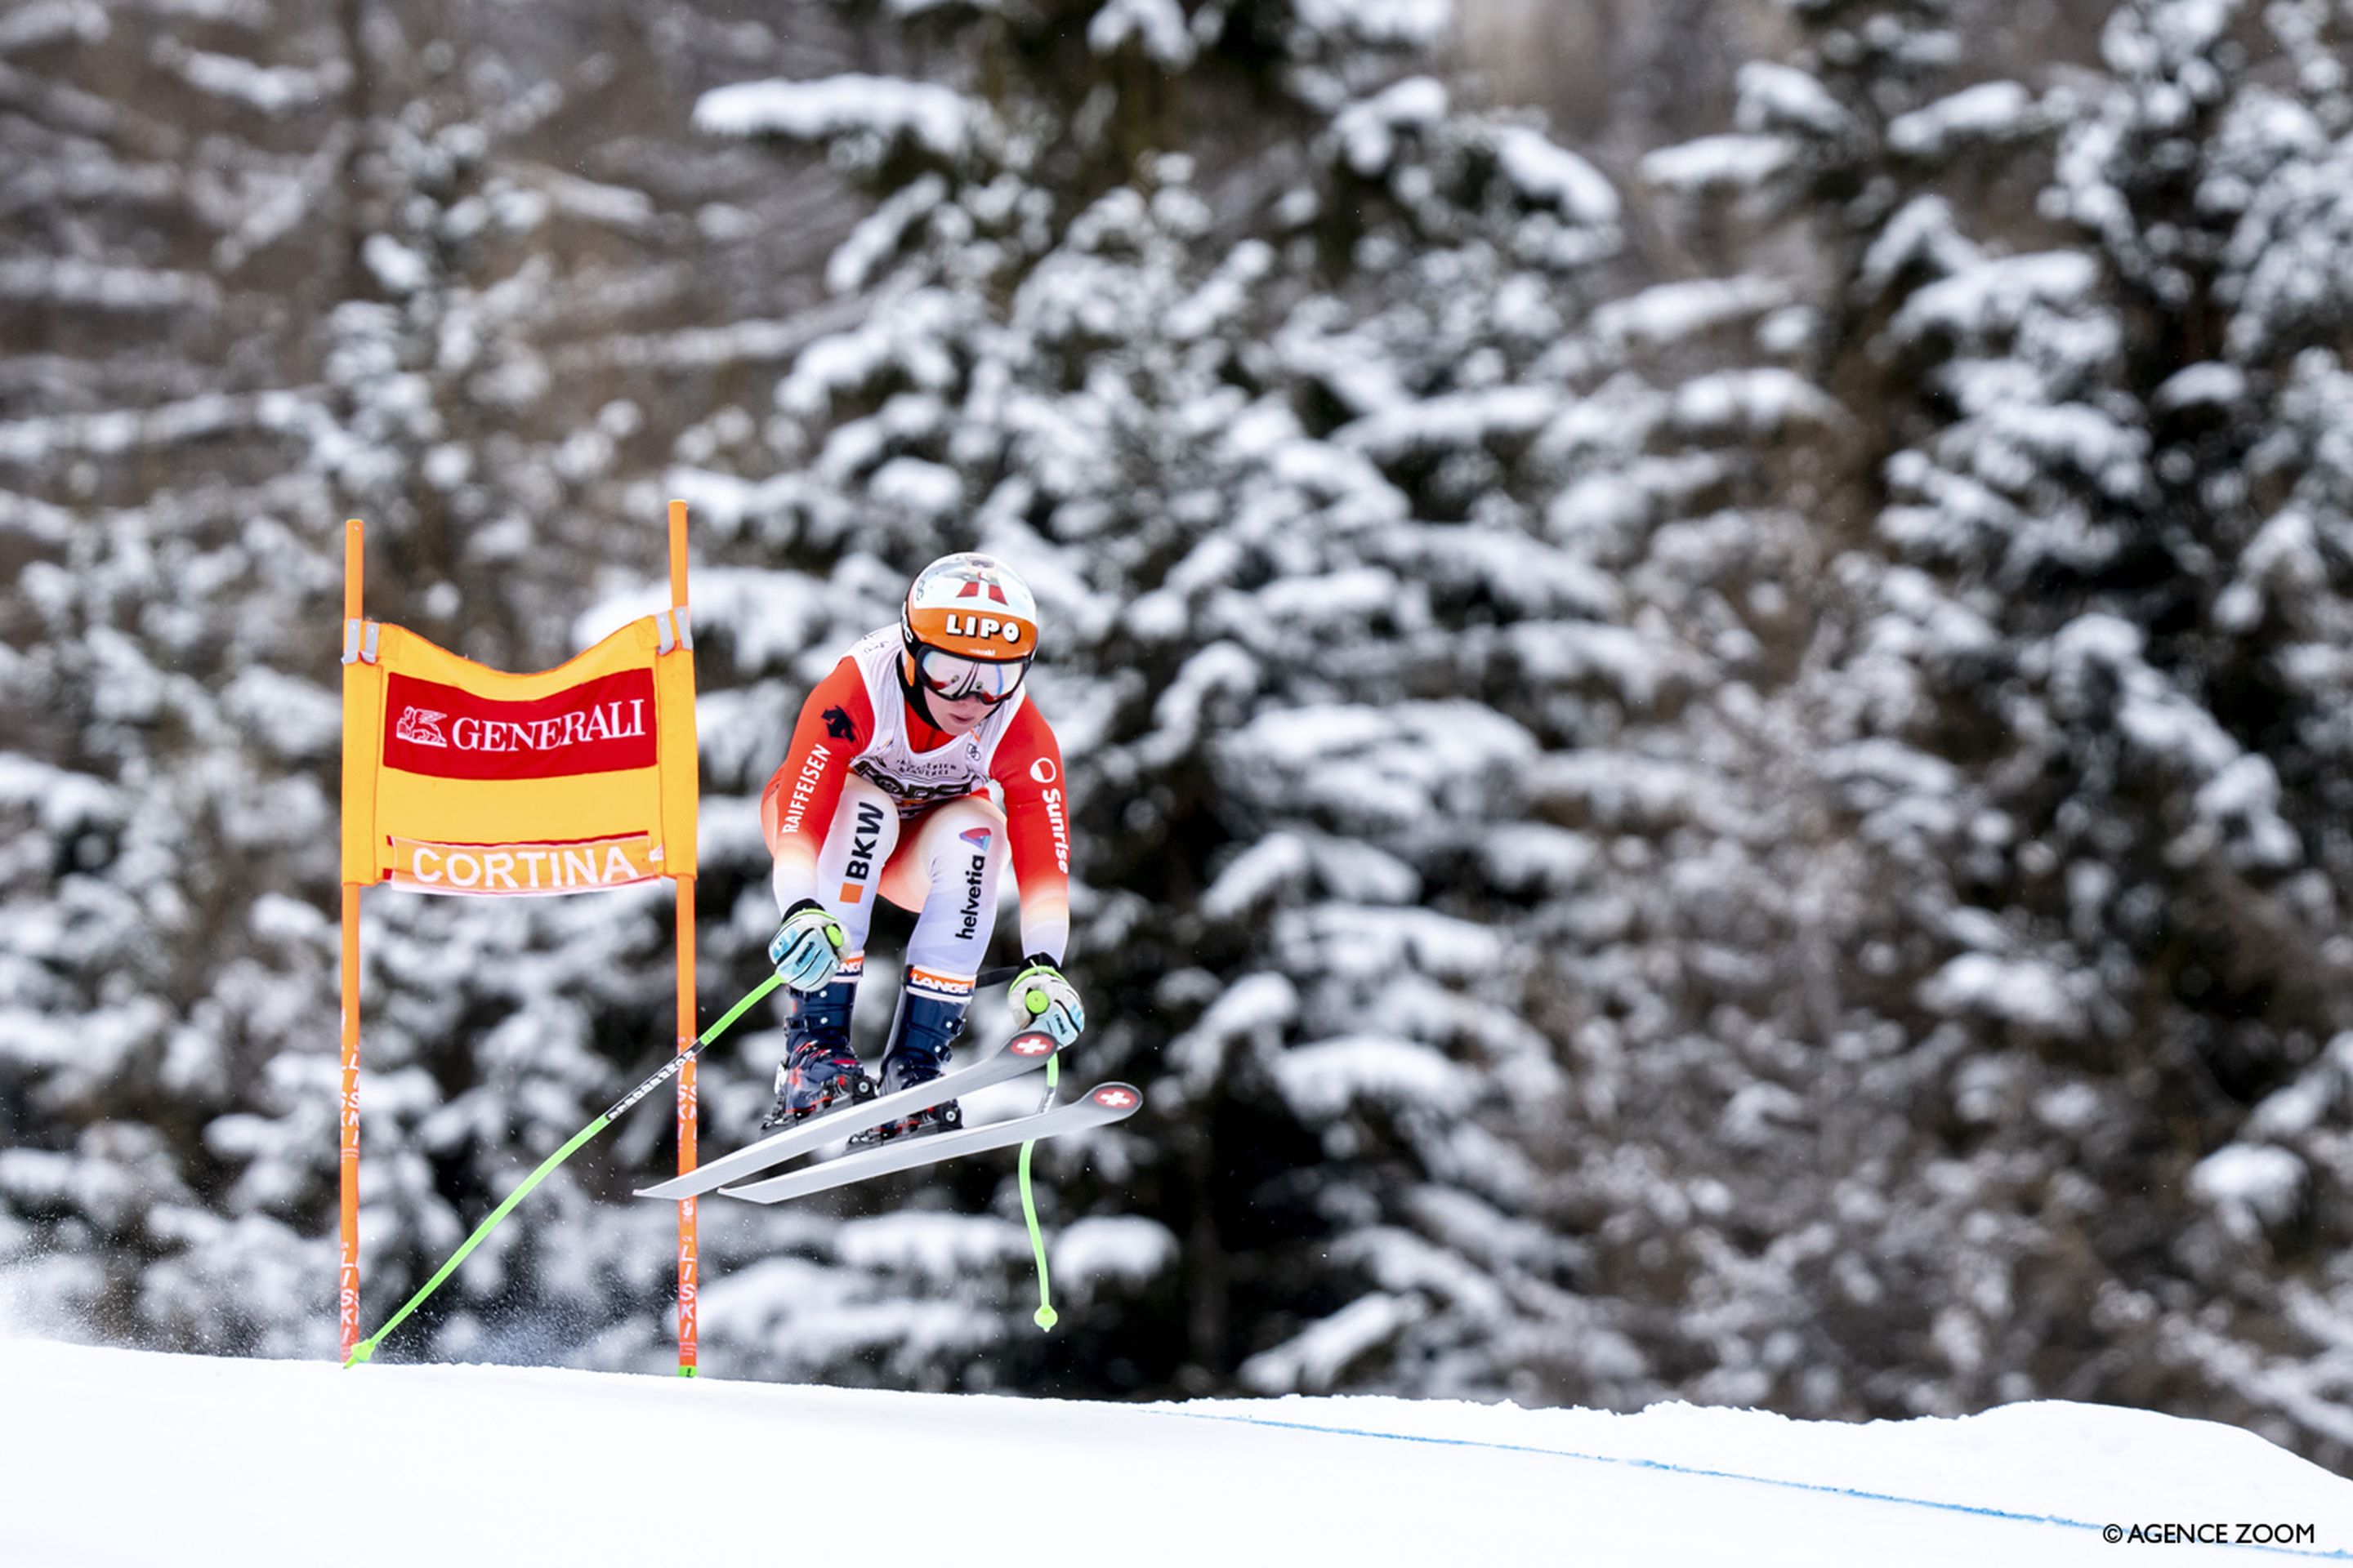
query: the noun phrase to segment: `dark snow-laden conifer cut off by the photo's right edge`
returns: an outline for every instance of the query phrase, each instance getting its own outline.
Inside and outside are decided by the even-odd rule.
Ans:
[[[2158,505],[2139,569],[2075,623],[2132,625],[2137,665],[2101,670],[2125,712],[2066,719],[2075,750],[2094,724],[2115,736],[2125,799],[2106,813],[2129,839],[2104,860],[2141,922],[2104,938],[2139,959],[2137,1025],[2195,1126],[2167,1150],[2174,1168],[2195,1159],[2188,1222],[2165,1215],[2167,1269],[2122,1284],[2160,1378],[2341,1465],[2353,860],[2332,649],[2353,534],[2325,433],[2353,386],[2337,261],[2353,40],[2322,5],[2148,2],[2118,7],[2104,42],[2115,87],[2064,146],[2049,200],[2122,299]],[[2200,722],[2167,743],[2155,701]]]

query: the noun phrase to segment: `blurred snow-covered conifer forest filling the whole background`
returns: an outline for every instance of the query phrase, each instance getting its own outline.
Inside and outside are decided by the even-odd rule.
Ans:
[[[1080,1072],[1148,1091],[1040,1150],[1052,1338],[979,1159],[706,1206],[713,1373],[2353,1467],[2348,26],[14,0],[0,1305],[332,1354],[341,520],[529,670],[664,602],[678,494],[706,1018],[802,693],[981,548]],[[367,898],[369,1324],[668,1056],[668,922]],[[640,1110],[393,1349],[666,1368],[668,1159]]]

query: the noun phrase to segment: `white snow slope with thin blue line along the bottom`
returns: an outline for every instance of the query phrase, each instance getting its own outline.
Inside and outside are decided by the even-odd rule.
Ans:
[[[2108,1563],[2353,1481],[2144,1410],[1793,1422],[1400,1399],[1120,1406],[0,1340],[0,1563]],[[2235,1533],[2235,1530],[2231,1530]],[[2118,1556],[2127,1554],[2127,1556]]]

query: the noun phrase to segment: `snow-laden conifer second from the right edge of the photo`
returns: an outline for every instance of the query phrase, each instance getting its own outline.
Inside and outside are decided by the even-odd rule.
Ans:
[[[1821,860],[1845,863],[1814,940],[1854,961],[1831,966],[1819,1056],[1762,1140],[1779,1182],[1739,1309],[1805,1408],[2024,1396],[2035,1347],[2078,1333],[2066,1302],[2097,1293],[2066,1159],[2101,1100],[2035,1065],[2080,1030],[2082,997],[2002,879],[2035,851],[1993,762],[2026,731],[1995,693],[2005,623],[2146,505],[2146,447],[2097,268],[2035,249],[2014,190],[2068,103],[1939,71],[1958,56],[1939,9],[1807,7],[1798,61],[1845,110],[1849,172],[1805,200],[1814,353],[1857,442],[1826,520],[1845,550],[1824,635],[1788,703],[1814,757],[1800,788],[1840,846]],[[1798,78],[1751,71],[1805,101]],[[1838,167],[1791,158],[1809,165]]]

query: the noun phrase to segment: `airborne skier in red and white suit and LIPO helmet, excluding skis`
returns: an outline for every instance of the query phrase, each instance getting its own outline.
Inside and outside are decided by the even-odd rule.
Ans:
[[[1028,585],[986,555],[946,555],[915,574],[899,625],[852,644],[802,703],[784,766],[760,797],[784,910],[767,957],[793,990],[776,1105],[762,1126],[941,1074],[988,950],[1007,858],[1028,954],[1012,983],[1014,1013],[1061,1046],[1087,1025],[1061,973],[1071,832],[1061,748],[1024,689],[1035,656]],[[880,1091],[849,1046],[875,898],[915,912]],[[958,1121],[946,1100],[878,1133]]]

